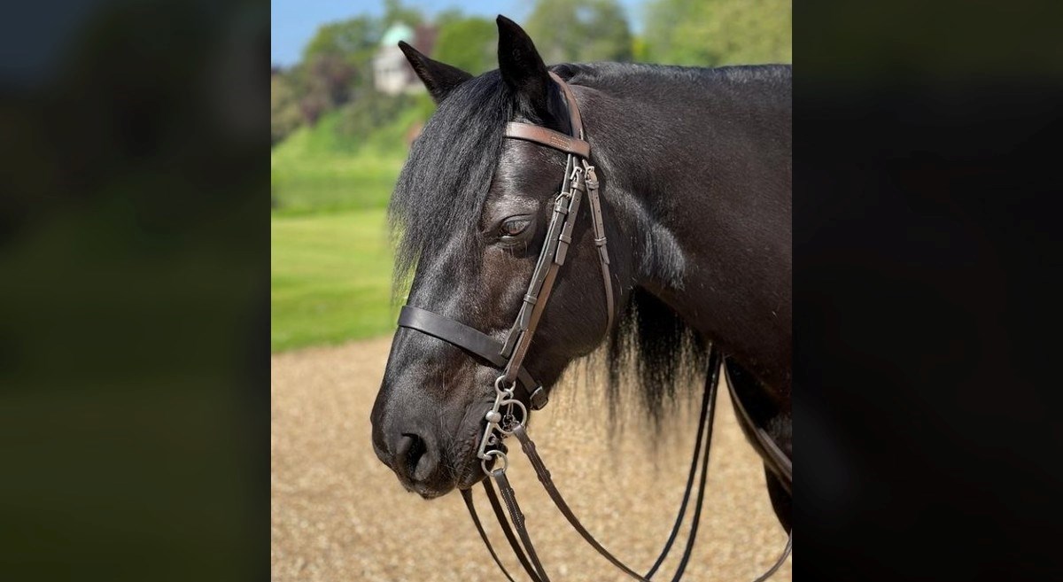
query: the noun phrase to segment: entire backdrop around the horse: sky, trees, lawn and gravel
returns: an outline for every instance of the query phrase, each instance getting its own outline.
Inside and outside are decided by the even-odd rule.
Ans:
[[[547,64],[792,59],[790,0],[274,0],[273,580],[501,578],[460,497],[425,501],[404,491],[373,453],[369,425],[396,316],[386,206],[410,142],[434,110],[396,44],[405,40],[433,58],[483,73],[497,67],[500,13],[528,32]],[[539,448],[588,528],[632,566],[646,569],[682,495],[680,467],[689,463],[696,414],[690,403],[678,403],[676,430],[647,439],[652,432],[644,418],[623,408],[607,417],[603,387],[590,375],[571,376],[575,381],[537,413]],[[762,466],[726,397],[719,406],[689,580],[753,579],[786,543]],[[569,455],[572,450],[579,453]],[[621,578],[551,509],[523,458],[513,459],[510,479],[552,576]],[[480,511],[492,520],[486,506]],[[502,542],[495,526],[486,527]],[[684,534],[679,545],[685,540]],[[679,554],[681,548],[664,563],[662,576],[671,576]],[[516,566],[511,558],[503,559]],[[790,580],[791,564],[775,580]]]

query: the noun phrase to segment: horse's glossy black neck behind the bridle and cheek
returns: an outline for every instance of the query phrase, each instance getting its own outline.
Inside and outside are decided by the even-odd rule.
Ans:
[[[789,82],[657,81],[585,107],[631,278],[789,395]]]

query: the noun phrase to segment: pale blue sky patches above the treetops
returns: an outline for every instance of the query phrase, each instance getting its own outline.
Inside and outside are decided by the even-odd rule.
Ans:
[[[641,30],[641,0],[621,0],[627,11],[627,19],[635,31]],[[433,2],[431,0],[405,0],[403,5],[420,8],[424,14],[435,15],[451,7],[459,7],[465,14],[494,18],[504,14],[521,22],[532,13],[532,2],[519,0],[461,0]],[[318,27],[325,22],[371,14],[384,13],[383,0],[270,0],[272,21],[270,23],[270,59],[274,65],[294,65],[303,47],[314,36]]]

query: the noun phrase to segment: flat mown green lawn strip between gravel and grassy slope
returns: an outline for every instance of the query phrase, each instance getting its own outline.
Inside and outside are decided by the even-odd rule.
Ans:
[[[385,210],[270,217],[270,349],[394,329]]]

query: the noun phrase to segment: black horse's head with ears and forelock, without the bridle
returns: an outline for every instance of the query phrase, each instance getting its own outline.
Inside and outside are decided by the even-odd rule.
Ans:
[[[401,45],[438,108],[410,151],[389,211],[398,276],[412,275],[407,305],[503,345],[527,301],[555,200],[572,171],[562,151],[504,139],[506,124],[566,135],[573,126],[570,105],[532,39],[504,17],[497,24],[499,69],[477,78]],[[601,184],[606,191],[607,178]],[[615,291],[621,305],[626,297],[627,286],[619,284],[629,276],[626,246],[610,247],[607,292],[594,238],[589,219],[574,221],[564,275],[553,285],[524,357],[522,376],[534,376],[546,392],[573,359],[607,337],[606,294]],[[407,327],[395,332],[372,439],[408,490],[436,497],[484,477],[477,447],[501,374],[490,356]]]

